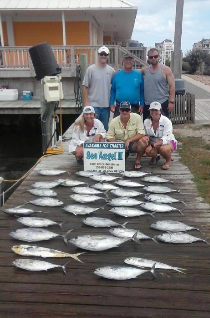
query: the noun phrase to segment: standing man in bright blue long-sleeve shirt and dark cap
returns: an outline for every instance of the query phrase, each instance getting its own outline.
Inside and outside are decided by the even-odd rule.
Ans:
[[[120,115],[119,104],[123,100],[130,102],[132,112],[136,114],[141,115],[140,106],[144,106],[144,78],[140,72],[133,69],[134,55],[132,53],[125,54],[123,66],[124,69],[116,72],[112,79],[109,105],[111,112],[114,113],[113,118]]]

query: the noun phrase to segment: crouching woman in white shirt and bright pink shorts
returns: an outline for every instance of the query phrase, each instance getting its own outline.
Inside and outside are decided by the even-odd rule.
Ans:
[[[163,170],[168,170],[171,163],[171,154],[177,149],[177,140],[173,135],[173,127],[170,119],[161,114],[162,107],[157,101],[149,106],[150,118],[145,119],[144,129],[146,136],[142,137],[143,142],[149,142],[145,150],[148,157],[152,157],[149,164],[156,164],[160,159],[157,153],[160,153],[166,162],[163,164]]]

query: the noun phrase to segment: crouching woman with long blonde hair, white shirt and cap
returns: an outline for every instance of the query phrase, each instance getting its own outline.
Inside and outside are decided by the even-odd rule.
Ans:
[[[76,157],[76,162],[83,165],[83,143],[105,142],[106,131],[104,125],[95,119],[95,110],[92,106],[83,108],[82,117],[75,121],[69,152]]]

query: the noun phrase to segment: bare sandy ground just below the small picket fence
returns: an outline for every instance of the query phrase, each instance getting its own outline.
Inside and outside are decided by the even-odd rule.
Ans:
[[[180,128],[179,128],[180,127]],[[200,128],[202,125],[196,125],[196,124],[180,124],[173,126],[173,133],[176,137],[176,134],[181,135],[183,137],[203,137],[203,139],[206,141],[206,143],[210,144],[210,126],[206,128]],[[192,129],[194,128],[194,129]],[[200,128],[200,129],[195,129]]]

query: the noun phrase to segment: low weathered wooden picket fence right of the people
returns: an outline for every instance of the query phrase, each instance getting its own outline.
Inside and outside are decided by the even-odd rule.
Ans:
[[[169,98],[170,100],[170,98]],[[170,113],[172,124],[194,124],[195,122],[195,95],[186,93],[175,96],[175,107]]]

